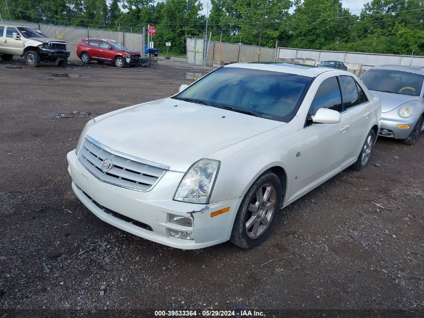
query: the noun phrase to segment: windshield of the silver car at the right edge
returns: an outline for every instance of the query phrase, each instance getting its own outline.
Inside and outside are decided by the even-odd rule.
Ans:
[[[419,96],[424,75],[389,69],[371,69],[361,80],[370,90]]]

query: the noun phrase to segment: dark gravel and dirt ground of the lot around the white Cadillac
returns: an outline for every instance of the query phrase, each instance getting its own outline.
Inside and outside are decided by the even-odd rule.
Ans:
[[[250,251],[173,249],[93,216],[66,162],[89,118],[169,96],[192,81],[183,73],[210,70],[160,63],[0,61],[2,318],[16,308],[424,309],[424,135],[415,146],[379,138],[366,170],[281,210]]]

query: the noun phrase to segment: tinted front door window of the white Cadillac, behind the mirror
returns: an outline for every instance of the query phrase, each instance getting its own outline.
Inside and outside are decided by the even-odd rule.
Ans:
[[[338,112],[343,111],[342,97],[336,77],[327,78],[321,83],[312,101],[308,117],[314,116],[320,108],[328,108]]]

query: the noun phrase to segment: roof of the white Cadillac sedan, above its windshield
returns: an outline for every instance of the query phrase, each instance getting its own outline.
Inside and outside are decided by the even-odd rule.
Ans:
[[[331,68],[318,67],[314,65],[287,63],[287,62],[251,62],[251,63],[231,63],[224,67],[239,67],[239,68],[250,68],[264,71],[274,71],[281,73],[289,73],[296,75],[303,75],[308,77],[315,77],[319,74],[326,72],[336,72],[340,70],[334,70]]]

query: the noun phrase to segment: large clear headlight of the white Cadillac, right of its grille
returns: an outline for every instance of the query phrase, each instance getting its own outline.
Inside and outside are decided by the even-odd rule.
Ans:
[[[174,200],[191,203],[209,203],[212,189],[218,175],[220,162],[213,159],[201,159],[186,172]]]

